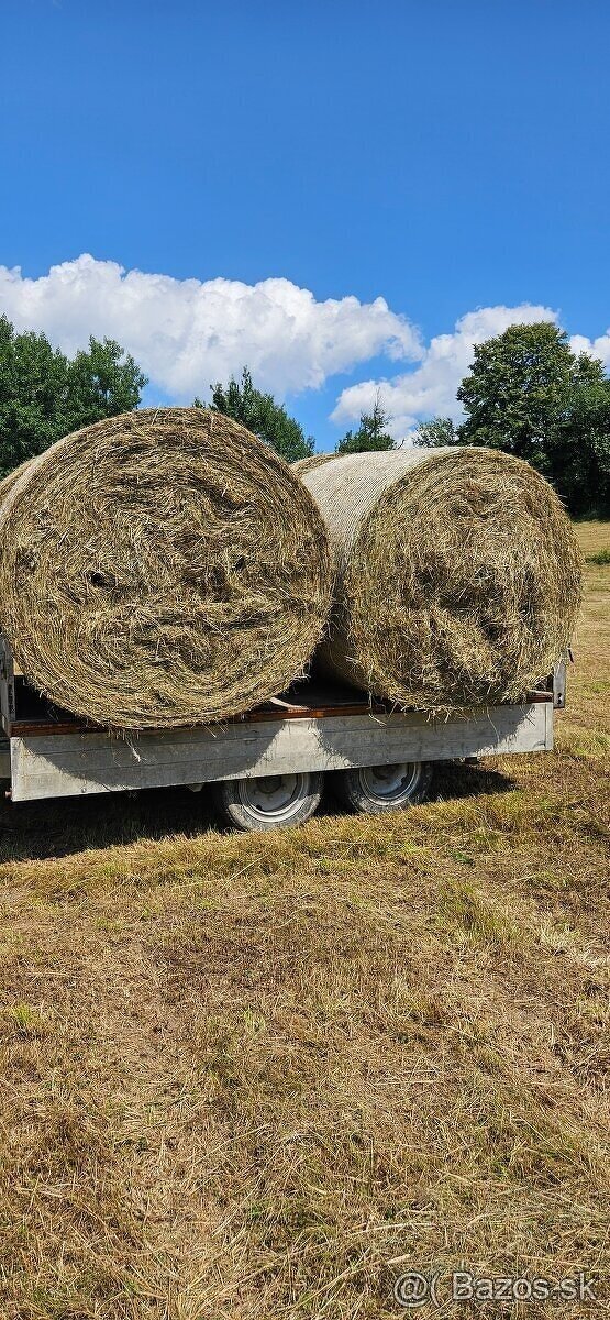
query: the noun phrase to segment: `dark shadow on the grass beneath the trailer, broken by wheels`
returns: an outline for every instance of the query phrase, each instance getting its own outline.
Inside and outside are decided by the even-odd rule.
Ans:
[[[434,770],[430,796],[437,801],[478,797],[508,792],[512,787],[508,776],[485,766],[442,763]],[[343,808],[327,791],[320,814],[327,818],[342,813]],[[85,849],[172,834],[195,837],[206,829],[219,828],[206,788],[199,793],[165,788],[41,803],[5,801],[0,804],[0,863],[66,857]]]

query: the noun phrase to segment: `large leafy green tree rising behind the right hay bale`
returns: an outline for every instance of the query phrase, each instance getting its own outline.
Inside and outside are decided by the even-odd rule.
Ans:
[[[572,513],[609,507],[610,381],[548,322],[478,345],[457,392],[459,444],[503,449],[547,477]]]

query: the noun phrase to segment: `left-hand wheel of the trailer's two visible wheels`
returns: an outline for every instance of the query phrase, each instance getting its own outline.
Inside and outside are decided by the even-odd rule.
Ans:
[[[300,825],[313,816],[322,797],[322,775],[265,775],[227,779],[213,785],[214,803],[228,825],[238,829],[277,829]]]

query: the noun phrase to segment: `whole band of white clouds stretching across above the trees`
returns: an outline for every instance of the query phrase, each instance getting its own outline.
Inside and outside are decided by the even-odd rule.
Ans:
[[[421,418],[462,416],[456,392],[477,343],[510,325],[559,321],[557,312],[529,302],[479,308],[425,346],[384,298],[317,301],[289,280],[174,280],[87,255],[36,280],[18,267],[0,265],[3,312],[17,329],[44,330],[70,354],[86,346],[90,334],[119,339],[153,388],[176,403],[190,403],[195,393],[207,399],[211,383],[239,375],[244,364],[257,385],[281,397],[316,389],[329,376],[383,355],[400,363],[399,374],[343,389],[333,421],[351,425],[380,389],[396,438],[408,437]],[[573,335],[570,346],[610,368],[610,330],[597,339]]]

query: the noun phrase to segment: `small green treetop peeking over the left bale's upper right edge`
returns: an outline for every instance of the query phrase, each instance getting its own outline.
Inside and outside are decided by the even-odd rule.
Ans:
[[[202,407],[199,399],[194,399],[194,407]],[[285,408],[277,404],[272,395],[264,395],[252,384],[252,376],[247,367],[243,368],[242,380],[231,376],[227,385],[217,383],[211,392],[211,407],[217,412],[232,417],[242,426],[247,426],[259,440],[264,440],[277,454],[281,454],[288,463],[297,458],[309,458],[313,454],[313,440],[305,440],[302,426],[289,417]]]

